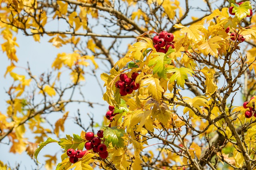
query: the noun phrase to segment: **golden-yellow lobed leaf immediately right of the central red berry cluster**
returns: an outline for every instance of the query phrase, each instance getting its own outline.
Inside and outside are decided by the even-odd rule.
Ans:
[[[140,86],[148,86],[148,94],[152,94],[152,97],[156,101],[160,102],[164,89],[160,86],[160,80],[158,78],[154,78],[153,76],[148,77],[142,80]]]

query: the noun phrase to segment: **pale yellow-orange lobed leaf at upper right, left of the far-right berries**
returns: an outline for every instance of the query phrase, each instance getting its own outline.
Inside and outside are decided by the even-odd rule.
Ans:
[[[212,37],[206,41],[202,41],[202,44],[199,45],[198,50],[205,50],[205,54],[213,55],[218,57],[218,49],[220,48],[220,43],[223,42],[223,38],[221,36]]]

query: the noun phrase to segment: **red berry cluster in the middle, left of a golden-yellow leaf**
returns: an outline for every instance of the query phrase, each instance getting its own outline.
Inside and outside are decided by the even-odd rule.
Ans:
[[[133,72],[131,78],[129,78],[125,73],[120,74],[120,80],[116,82],[116,88],[120,89],[121,96],[131,94],[133,90],[137,90],[140,87],[140,84],[135,83],[135,79],[138,75],[138,72]]]

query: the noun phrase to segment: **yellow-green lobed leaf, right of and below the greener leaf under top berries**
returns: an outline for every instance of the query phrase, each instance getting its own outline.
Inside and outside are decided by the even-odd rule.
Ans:
[[[188,74],[192,76],[194,74],[194,71],[191,70],[190,68],[168,68],[167,72],[175,72],[171,77],[170,77],[170,82],[174,82],[176,80],[177,85],[184,88],[185,80],[188,79]]]

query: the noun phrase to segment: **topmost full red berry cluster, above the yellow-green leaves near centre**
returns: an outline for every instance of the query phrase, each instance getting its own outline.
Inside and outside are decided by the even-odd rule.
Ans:
[[[153,43],[155,43],[154,48],[157,52],[166,53],[170,47],[174,49],[173,39],[174,36],[172,33],[162,31],[153,38]]]

